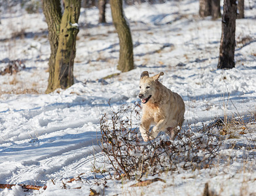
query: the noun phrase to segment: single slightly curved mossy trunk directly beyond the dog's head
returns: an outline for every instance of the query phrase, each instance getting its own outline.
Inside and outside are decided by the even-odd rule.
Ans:
[[[119,35],[119,65],[117,69],[122,72],[134,69],[134,54],[132,46],[132,35],[126,23],[122,10],[122,0],[110,0],[113,23]]]

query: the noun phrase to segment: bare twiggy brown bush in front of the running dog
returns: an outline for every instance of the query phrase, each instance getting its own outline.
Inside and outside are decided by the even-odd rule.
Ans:
[[[176,140],[160,135],[155,140],[143,142],[139,133],[139,105],[121,106],[112,114],[103,115],[100,122],[101,149],[113,169],[128,179],[145,174],[182,169],[210,167],[221,146],[211,134],[213,127],[194,132],[182,130]],[[138,121],[137,121],[138,122]]]

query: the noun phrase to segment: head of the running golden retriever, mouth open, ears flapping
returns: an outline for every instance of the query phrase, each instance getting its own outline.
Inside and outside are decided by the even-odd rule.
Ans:
[[[155,76],[149,77],[149,73],[147,71],[143,71],[143,73],[141,73],[141,79],[139,81],[139,99],[141,99],[142,103],[145,104],[149,99],[155,98],[158,78],[163,74],[163,72],[160,72]]]

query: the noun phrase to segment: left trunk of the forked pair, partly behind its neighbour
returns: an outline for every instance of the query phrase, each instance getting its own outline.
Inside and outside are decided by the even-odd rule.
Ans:
[[[60,0],[44,0],[43,12],[48,25],[48,39],[50,42],[50,58],[48,62],[49,77],[48,87],[46,90],[46,93],[50,93],[53,91],[54,86],[55,56],[58,50],[60,22],[62,20],[62,8],[60,6]]]

